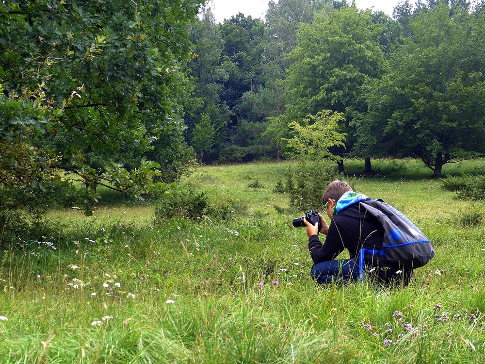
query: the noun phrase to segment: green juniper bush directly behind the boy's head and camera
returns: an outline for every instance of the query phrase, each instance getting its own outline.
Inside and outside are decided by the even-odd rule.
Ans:
[[[290,206],[300,211],[318,209],[326,186],[338,177],[333,165],[300,162],[287,181]]]

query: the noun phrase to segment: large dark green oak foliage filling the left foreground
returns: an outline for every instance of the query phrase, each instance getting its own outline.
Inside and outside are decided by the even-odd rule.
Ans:
[[[167,188],[156,182],[161,165],[143,156],[161,139],[171,140],[159,153],[167,160],[182,147],[180,116],[192,92],[187,27],[199,5],[1,4],[1,209],[32,197],[84,205],[96,200],[97,184],[138,197]]]

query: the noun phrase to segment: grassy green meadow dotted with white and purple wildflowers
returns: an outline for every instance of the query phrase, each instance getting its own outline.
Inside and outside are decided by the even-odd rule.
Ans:
[[[436,256],[406,288],[317,286],[291,227],[302,212],[273,192],[293,166],[195,170],[186,182],[211,202],[241,206],[217,219],[157,220],[153,203],[107,191],[92,217],[49,211],[57,235],[0,255],[0,363],[483,363],[485,229],[466,217],[484,202],[453,199],[419,161],[367,176],[348,161],[355,190],[410,217]]]

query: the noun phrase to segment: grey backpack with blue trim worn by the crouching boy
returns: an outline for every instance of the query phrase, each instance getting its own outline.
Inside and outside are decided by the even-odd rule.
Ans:
[[[410,270],[433,259],[435,250],[429,239],[401,212],[382,199],[363,201],[360,205],[383,226],[384,242],[380,254],[385,255],[389,263]],[[362,265],[365,253],[360,251]]]

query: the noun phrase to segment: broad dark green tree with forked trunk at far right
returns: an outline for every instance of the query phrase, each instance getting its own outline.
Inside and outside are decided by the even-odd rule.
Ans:
[[[444,4],[410,21],[412,38],[381,80],[368,80],[357,149],[442,166],[485,153],[485,17]]]

